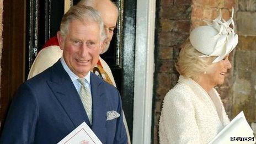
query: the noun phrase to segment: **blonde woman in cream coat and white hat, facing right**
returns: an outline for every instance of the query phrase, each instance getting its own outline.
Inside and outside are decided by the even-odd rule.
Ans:
[[[164,98],[160,143],[209,143],[230,120],[214,88],[231,68],[228,54],[238,42],[221,17],[191,31],[179,54],[178,84]]]

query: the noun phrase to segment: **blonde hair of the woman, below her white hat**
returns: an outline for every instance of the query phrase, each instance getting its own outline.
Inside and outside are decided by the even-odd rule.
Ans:
[[[194,81],[199,80],[199,74],[209,72],[215,63],[215,56],[202,58],[199,57],[202,54],[197,51],[190,43],[189,39],[186,39],[180,50],[178,62],[175,67],[180,75],[191,78]]]

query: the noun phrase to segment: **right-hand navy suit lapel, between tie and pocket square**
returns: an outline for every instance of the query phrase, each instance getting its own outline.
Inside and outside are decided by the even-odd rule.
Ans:
[[[92,130],[100,140],[105,139],[105,123],[106,123],[106,95],[102,79],[94,73],[90,74],[90,86],[93,98],[93,122]]]

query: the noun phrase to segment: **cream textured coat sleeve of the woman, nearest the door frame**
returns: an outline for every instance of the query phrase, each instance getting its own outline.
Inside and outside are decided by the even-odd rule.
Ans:
[[[194,106],[189,95],[167,93],[159,129],[160,143],[200,143]]]

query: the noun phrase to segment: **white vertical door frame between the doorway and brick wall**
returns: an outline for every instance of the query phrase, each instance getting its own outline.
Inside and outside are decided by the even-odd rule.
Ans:
[[[137,1],[132,143],[151,143],[156,0]]]

